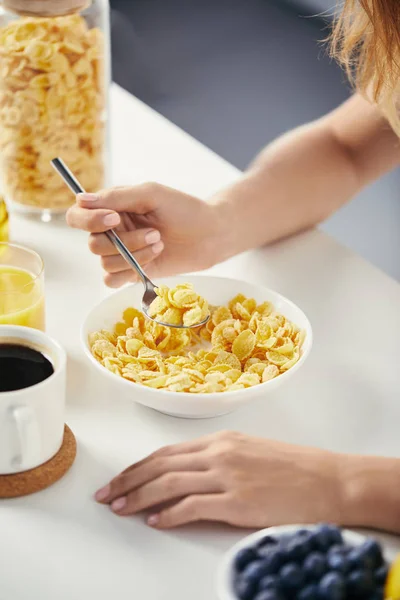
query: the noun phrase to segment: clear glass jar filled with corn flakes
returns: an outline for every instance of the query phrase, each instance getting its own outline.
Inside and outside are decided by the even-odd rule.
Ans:
[[[108,185],[108,0],[2,0],[0,179],[11,210],[50,221],[74,196],[60,157],[88,192]]]

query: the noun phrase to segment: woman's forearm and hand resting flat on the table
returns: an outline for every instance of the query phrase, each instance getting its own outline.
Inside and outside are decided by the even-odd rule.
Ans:
[[[159,529],[331,521],[399,533],[400,460],[219,432],[158,450],[96,499],[121,516],[150,511],[148,523]]]

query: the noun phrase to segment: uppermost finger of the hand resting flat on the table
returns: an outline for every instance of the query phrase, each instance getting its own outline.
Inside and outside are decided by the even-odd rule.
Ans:
[[[110,504],[116,498],[126,496],[130,492],[163,475],[181,471],[204,471],[207,464],[202,455],[182,454],[170,457],[156,457],[148,462],[141,462],[124,471],[113,479],[106,488],[99,490],[96,500]]]

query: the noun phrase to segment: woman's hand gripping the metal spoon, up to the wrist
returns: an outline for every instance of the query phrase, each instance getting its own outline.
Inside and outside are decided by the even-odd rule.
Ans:
[[[227,257],[227,224],[217,205],[155,183],[80,194],[67,213],[71,227],[91,233],[89,248],[101,256],[105,282],[135,281],[104,235],[115,228],[150,276],[200,271]]]

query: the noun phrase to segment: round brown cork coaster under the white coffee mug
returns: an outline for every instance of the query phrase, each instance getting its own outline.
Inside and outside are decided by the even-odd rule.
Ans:
[[[62,446],[47,463],[23,473],[0,475],[0,498],[18,498],[45,490],[69,471],[75,456],[75,436],[66,425]]]

